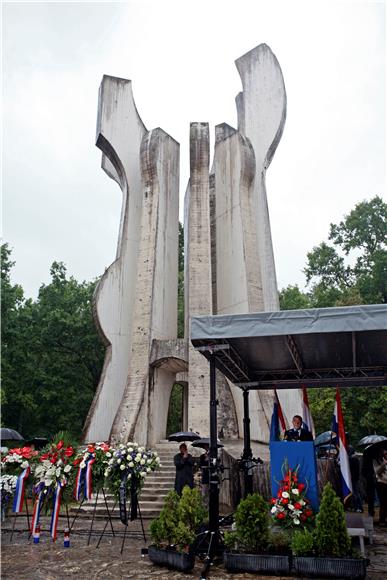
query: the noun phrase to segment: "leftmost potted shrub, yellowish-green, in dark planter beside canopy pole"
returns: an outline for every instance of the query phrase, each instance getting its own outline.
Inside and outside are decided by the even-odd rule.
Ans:
[[[154,564],[187,572],[195,565],[193,546],[206,516],[200,491],[185,486],[181,498],[170,491],[160,516],[150,525],[153,545],[148,555]]]

